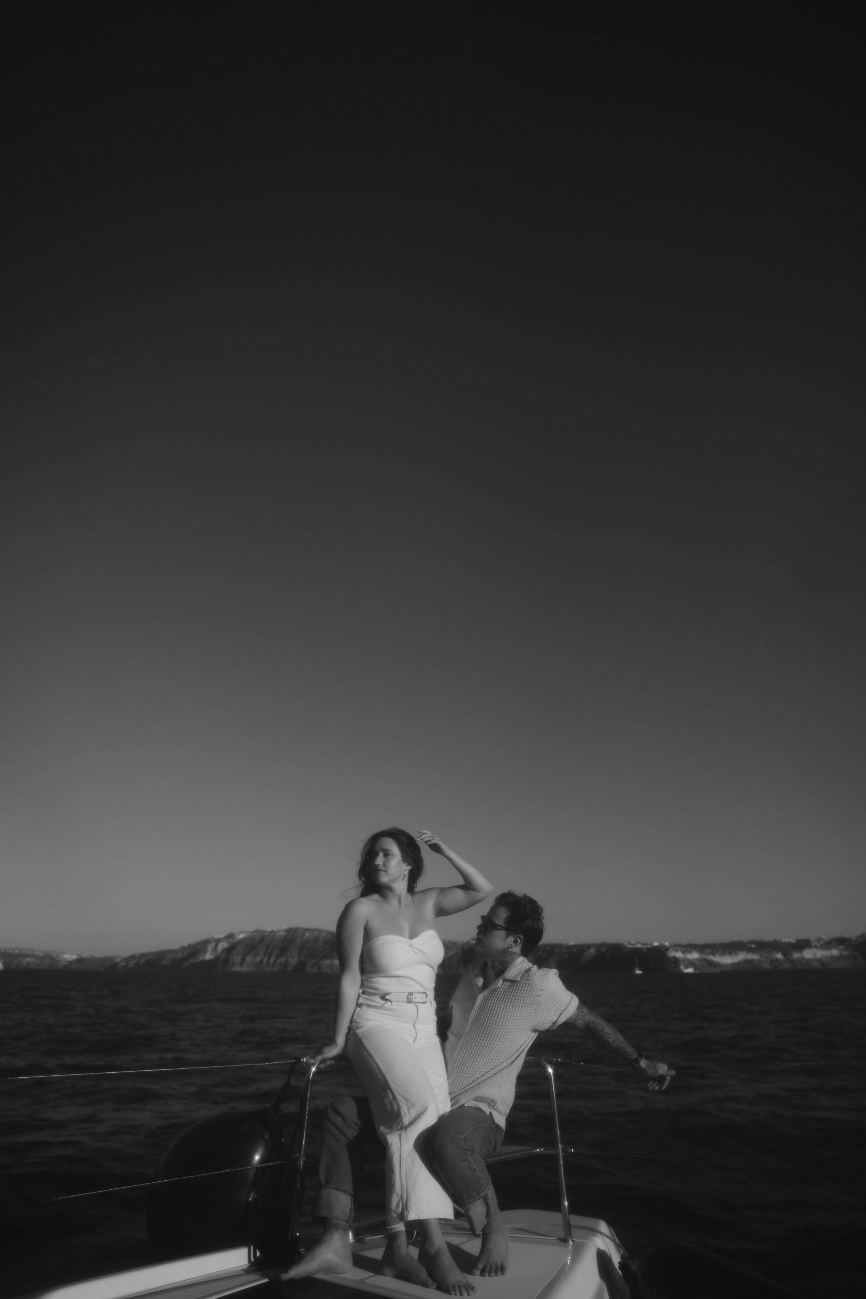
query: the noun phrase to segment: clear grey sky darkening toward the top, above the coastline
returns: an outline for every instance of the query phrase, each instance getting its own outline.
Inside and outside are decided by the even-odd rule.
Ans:
[[[552,939],[866,927],[861,127],[200,35],[18,83],[0,944],[332,927],[387,824]]]

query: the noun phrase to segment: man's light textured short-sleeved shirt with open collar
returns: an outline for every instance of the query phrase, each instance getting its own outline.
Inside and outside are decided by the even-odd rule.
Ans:
[[[476,1105],[500,1128],[514,1103],[523,1057],[544,1029],[557,1029],[578,999],[556,970],[541,970],[518,956],[487,990],[480,961],[469,965],[451,999],[445,1042],[451,1105]]]

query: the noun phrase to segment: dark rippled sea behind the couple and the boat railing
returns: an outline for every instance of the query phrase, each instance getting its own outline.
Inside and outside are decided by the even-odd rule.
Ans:
[[[567,1160],[571,1211],[605,1218],[635,1254],[689,1242],[804,1296],[866,1291],[866,976],[566,982],[678,1070],[662,1095],[630,1069],[560,1070],[563,1141],[576,1148]],[[441,981],[440,1000],[453,983]],[[287,1057],[328,1038],[335,987],[334,976],[313,974],[5,970],[0,1073]],[[543,1035],[539,1047],[609,1060],[570,1029]],[[186,1126],[266,1104],[284,1073],[0,1081],[0,1293],[152,1261],[143,1191],[22,1204],[144,1181]],[[340,1090],[358,1090],[348,1066],[317,1078],[314,1111]],[[317,1129],[314,1117],[313,1137]],[[508,1139],[522,1138],[551,1139],[547,1083],[532,1063],[509,1120]],[[358,1217],[380,1211],[380,1178],[373,1164]],[[552,1160],[505,1164],[495,1183],[504,1207],[558,1205]]]

